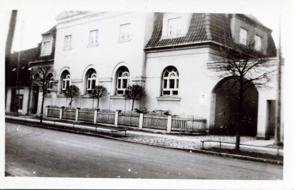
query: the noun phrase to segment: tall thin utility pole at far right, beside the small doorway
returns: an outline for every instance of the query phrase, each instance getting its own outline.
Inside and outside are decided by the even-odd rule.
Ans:
[[[275,110],[275,139],[277,145],[281,143],[281,16],[279,16],[279,46],[276,52],[277,59],[277,85],[276,85],[276,110]]]

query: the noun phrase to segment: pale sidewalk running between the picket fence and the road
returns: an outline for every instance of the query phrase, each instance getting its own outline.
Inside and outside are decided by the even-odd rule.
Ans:
[[[9,118],[12,120],[19,120],[19,121],[29,121],[29,122],[38,122],[38,117],[36,116],[24,116],[20,115],[18,117],[6,114],[5,118]],[[151,144],[157,146],[165,146],[170,148],[178,148],[178,149],[190,149],[190,150],[200,150],[202,148],[201,141],[222,141],[222,142],[229,142],[235,143],[236,137],[235,136],[223,136],[223,135],[202,135],[202,136],[194,136],[192,134],[160,134],[160,133],[152,133],[147,131],[139,131],[137,128],[117,128],[110,125],[104,124],[89,124],[83,125],[79,123],[63,123],[61,121],[54,121],[54,120],[44,120],[44,124],[50,125],[59,125],[59,126],[66,126],[66,127],[73,127],[79,129],[86,129],[96,132],[105,132],[111,133],[110,131],[115,131],[118,129],[126,130],[126,136],[124,136],[125,132],[116,132],[116,133],[123,133],[123,136],[117,137],[116,139],[125,140],[125,141],[133,141],[137,143],[144,143],[144,144]],[[89,133],[90,133],[89,132]],[[241,136],[240,137],[240,147],[241,150],[249,151],[249,152],[260,152],[260,153],[267,153],[267,154],[274,154],[276,155],[278,152],[277,147],[273,146],[274,139],[271,140],[255,140],[255,137],[247,137]],[[235,144],[225,144],[222,143],[223,147],[226,145],[228,147],[233,147]],[[246,146],[250,145],[250,146]],[[219,146],[218,142],[205,142],[204,147],[208,148],[211,146]],[[260,147],[258,147],[260,146]],[[273,147],[273,148],[267,148]],[[279,149],[279,155],[283,155],[283,149]]]

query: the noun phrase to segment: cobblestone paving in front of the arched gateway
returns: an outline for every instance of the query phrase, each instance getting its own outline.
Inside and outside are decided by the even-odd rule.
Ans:
[[[205,136],[186,136],[186,138],[194,138],[203,141],[224,141],[235,143],[235,136],[220,136],[220,135],[205,135]],[[201,149],[201,142],[193,142],[186,140],[177,140],[173,138],[163,138],[163,137],[154,137],[154,136],[137,136],[137,135],[129,135],[128,137],[120,138],[123,140],[141,142],[147,144],[154,144],[160,146],[169,146],[176,148],[185,148],[185,149]],[[240,137],[240,142],[252,141],[254,137]]]

